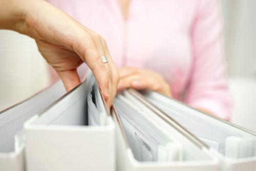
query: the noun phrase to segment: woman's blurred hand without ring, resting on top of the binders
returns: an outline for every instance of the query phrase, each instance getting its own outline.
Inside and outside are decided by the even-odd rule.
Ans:
[[[119,75],[118,91],[126,88],[134,88],[136,90],[148,89],[172,97],[169,84],[158,73],[134,67],[123,67],[119,70]]]

